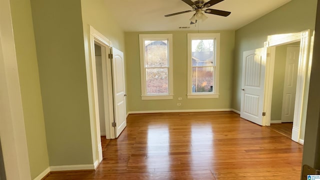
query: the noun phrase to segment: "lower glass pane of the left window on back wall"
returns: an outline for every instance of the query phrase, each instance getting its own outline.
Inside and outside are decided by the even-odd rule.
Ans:
[[[146,93],[167,94],[168,91],[168,69],[146,68]]]

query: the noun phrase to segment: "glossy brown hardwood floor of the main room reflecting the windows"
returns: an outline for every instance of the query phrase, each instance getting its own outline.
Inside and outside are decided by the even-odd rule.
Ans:
[[[130,114],[96,171],[45,179],[299,179],[301,158],[302,145],[234,112]]]

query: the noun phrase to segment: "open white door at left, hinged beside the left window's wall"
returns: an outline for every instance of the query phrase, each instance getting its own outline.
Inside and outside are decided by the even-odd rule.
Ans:
[[[115,137],[118,137],[126,126],[124,60],[120,50],[112,47],[112,53]]]

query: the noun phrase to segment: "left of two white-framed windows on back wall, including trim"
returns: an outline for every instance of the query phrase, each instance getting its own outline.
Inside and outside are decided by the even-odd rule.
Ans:
[[[141,99],[172,99],[172,34],[139,34]]]

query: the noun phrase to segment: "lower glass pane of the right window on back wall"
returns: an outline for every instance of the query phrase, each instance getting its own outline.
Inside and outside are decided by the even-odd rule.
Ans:
[[[213,92],[214,67],[192,67],[192,92]]]

